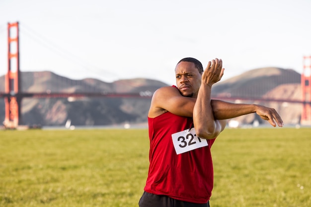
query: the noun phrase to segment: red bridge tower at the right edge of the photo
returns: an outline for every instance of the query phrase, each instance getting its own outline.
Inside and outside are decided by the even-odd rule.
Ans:
[[[301,124],[311,125],[311,56],[304,56],[304,70],[301,74],[301,90],[302,101],[304,102]]]

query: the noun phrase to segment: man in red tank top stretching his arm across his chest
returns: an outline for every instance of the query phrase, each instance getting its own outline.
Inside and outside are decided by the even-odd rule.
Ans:
[[[283,126],[273,108],[211,100],[212,85],[224,74],[222,60],[203,66],[183,58],[176,87],[158,89],[148,113],[150,166],[140,207],[209,207],[213,189],[211,146],[226,120],[256,112],[272,126]]]

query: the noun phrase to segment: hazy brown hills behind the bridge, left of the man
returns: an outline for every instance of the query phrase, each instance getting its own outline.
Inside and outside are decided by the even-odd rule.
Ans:
[[[4,91],[4,76],[0,77],[0,91]],[[2,84],[3,83],[3,84]],[[97,79],[72,80],[49,71],[22,72],[23,92],[101,92],[135,93],[156,89],[166,84],[149,79],[118,80],[106,83]],[[22,100],[22,124],[59,126],[71,120],[72,125],[114,125],[146,122],[150,99],[83,98]],[[4,103],[0,102],[0,120],[4,120]]]

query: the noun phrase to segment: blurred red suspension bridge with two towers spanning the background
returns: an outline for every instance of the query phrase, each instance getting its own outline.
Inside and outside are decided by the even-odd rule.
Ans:
[[[4,92],[0,91],[0,98],[4,98],[5,119],[3,125],[5,128],[17,128],[20,123],[21,101],[23,98],[82,98],[82,97],[102,97],[102,98],[149,98],[152,94],[142,93],[108,93],[102,91],[80,92],[80,93],[61,93],[61,92],[24,92],[21,88],[21,72],[19,70],[19,23],[7,24],[7,72],[5,75]],[[15,36],[11,29],[15,29]],[[13,48],[15,46],[15,48]],[[14,64],[15,63],[15,64]],[[15,68],[14,68],[15,66]],[[279,102],[279,103],[298,103],[302,104],[301,124],[311,125],[311,56],[304,56],[304,68],[301,75],[301,99],[274,99],[264,97],[228,97],[217,95],[213,99],[235,101],[260,101],[260,102]]]

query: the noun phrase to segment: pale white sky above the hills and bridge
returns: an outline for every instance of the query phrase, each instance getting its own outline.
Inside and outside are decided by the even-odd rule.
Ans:
[[[0,75],[16,21],[20,71],[172,85],[180,59],[205,68],[217,57],[223,80],[261,67],[302,73],[310,9],[311,0],[0,0]]]

